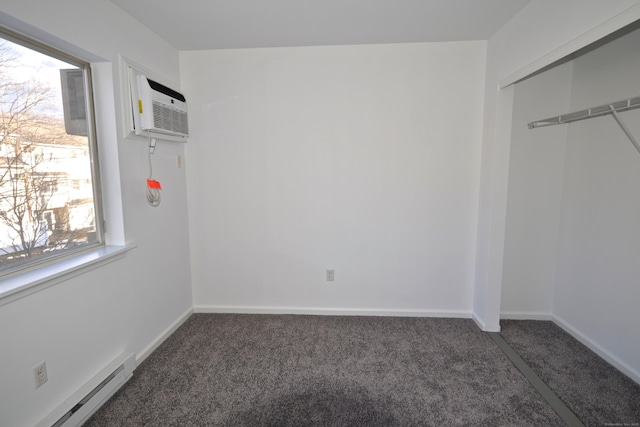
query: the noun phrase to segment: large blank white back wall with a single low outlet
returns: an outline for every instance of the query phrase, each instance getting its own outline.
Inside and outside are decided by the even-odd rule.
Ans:
[[[196,310],[470,315],[484,61],[181,52]]]

